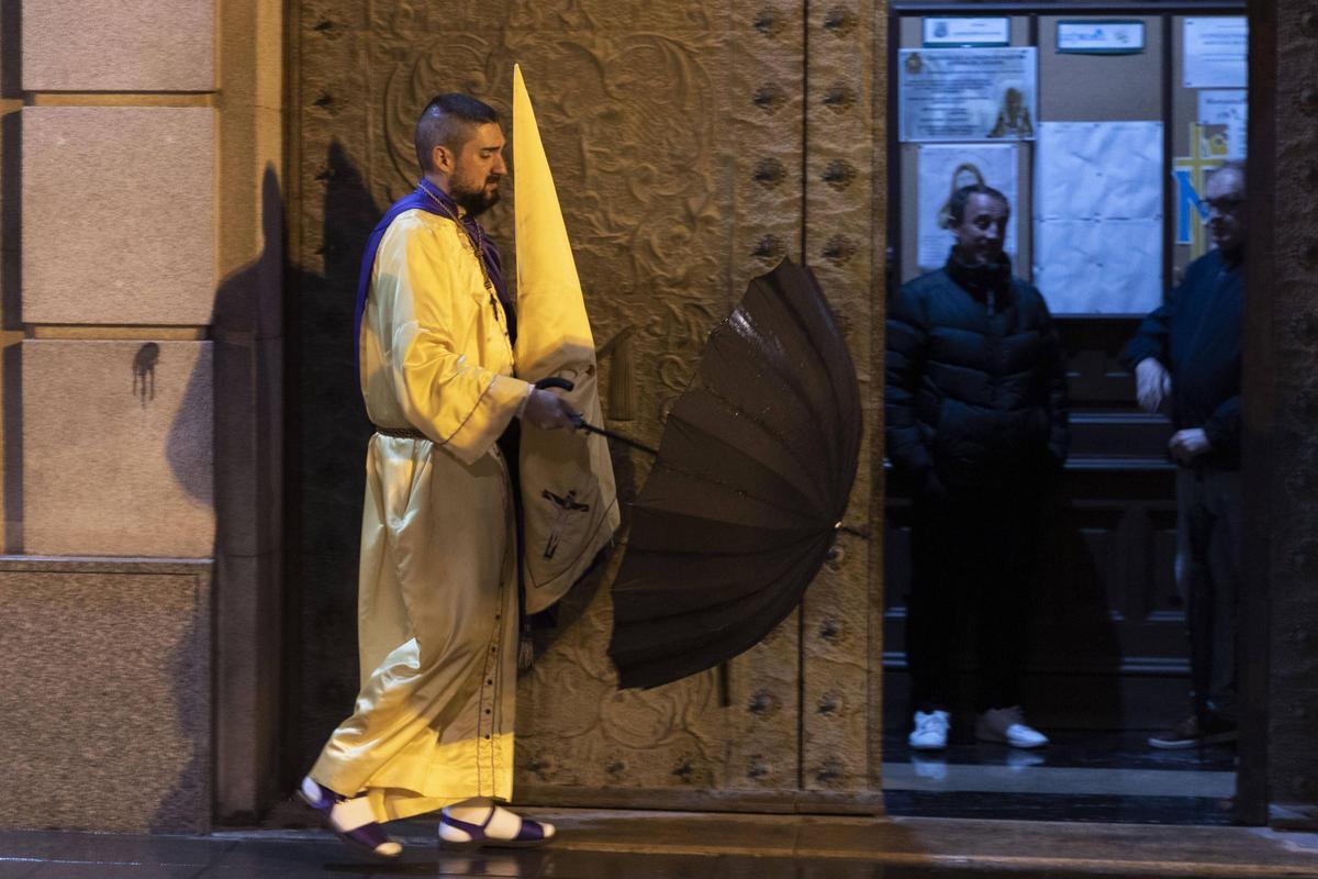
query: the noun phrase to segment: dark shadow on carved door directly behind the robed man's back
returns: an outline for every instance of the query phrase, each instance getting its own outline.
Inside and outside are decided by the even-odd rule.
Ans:
[[[324,186],[316,249],[324,274],[289,266],[285,287],[283,766],[290,783],[311,766],[357,695],[357,555],[370,424],[357,389],[352,327],[361,254],[384,211],[337,141],[316,179]]]

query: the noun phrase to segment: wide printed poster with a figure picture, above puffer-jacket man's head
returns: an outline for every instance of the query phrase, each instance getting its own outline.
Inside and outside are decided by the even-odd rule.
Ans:
[[[1033,140],[1033,47],[903,49],[903,141]]]

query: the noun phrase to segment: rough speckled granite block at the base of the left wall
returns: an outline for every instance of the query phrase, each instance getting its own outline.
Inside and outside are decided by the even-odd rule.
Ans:
[[[208,564],[0,563],[0,826],[210,829]]]

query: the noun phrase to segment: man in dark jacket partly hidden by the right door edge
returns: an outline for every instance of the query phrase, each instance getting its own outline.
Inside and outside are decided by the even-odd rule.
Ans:
[[[1240,585],[1240,322],[1244,287],[1244,169],[1226,165],[1205,187],[1217,249],[1185,269],[1166,303],[1126,347],[1140,406],[1170,398],[1194,713],[1149,738],[1193,747],[1236,734],[1236,600]]]

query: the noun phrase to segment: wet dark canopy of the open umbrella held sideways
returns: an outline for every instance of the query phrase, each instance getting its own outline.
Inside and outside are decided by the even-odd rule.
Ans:
[[[828,557],[859,448],[842,333],[784,260],[709,336],[668,415],[613,586],[618,685],[712,668],[782,622]]]

